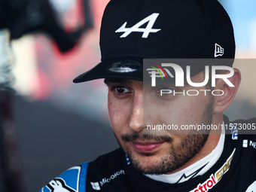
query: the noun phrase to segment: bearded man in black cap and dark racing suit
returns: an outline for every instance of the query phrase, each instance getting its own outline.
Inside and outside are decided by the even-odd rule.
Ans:
[[[256,137],[238,135],[223,115],[241,75],[231,69],[233,27],[216,0],[111,0],[100,46],[102,62],[74,82],[105,78],[120,148],[68,169],[41,191],[256,191]],[[151,62],[162,58],[172,63]],[[160,83],[165,72],[175,78]],[[181,72],[190,77],[178,78]],[[188,129],[199,125],[213,129]]]

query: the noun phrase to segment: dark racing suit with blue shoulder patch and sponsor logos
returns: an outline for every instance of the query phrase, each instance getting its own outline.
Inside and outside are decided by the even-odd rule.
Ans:
[[[230,123],[225,116],[224,123]],[[256,118],[233,123],[251,123],[251,126],[255,126]],[[66,170],[40,191],[256,192],[256,133],[240,135],[238,127],[231,130],[231,134],[225,135],[224,151],[215,165],[203,175],[195,174],[182,183],[168,184],[146,177],[133,167],[123,150],[118,148],[93,162]]]

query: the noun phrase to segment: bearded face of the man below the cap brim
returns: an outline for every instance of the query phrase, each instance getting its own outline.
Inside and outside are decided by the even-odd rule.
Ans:
[[[203,82],[204,75],[191,78]],[[160,96],[161,89],[202,90],[206,87],[174,87],[172,84],[151,87],[142,81],[111,79],[108,85],[108,112],[114,135],[123,151],[140,172],[166,174],[187,163],[208,139],[208,132],[183,134],[143,134],[147,125],[196,125],[211,124],[213,98],[201,92],[197,96],[171,93]],[[209,90],[209,88],[208,88]]]

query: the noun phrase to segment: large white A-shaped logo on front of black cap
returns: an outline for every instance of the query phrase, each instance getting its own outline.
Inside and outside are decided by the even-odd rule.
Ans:
[[[120,35],[120,38],[126,38],[128,35],[130,35],[131,32],[143,32],[142,38],[148,38],[148,35],[150,32],[158,32],[161,29],[152,29],[155,21],[157,20],[159,14],[154,13],[150,16],[146,17],[145,19],[141,20],[139,23],[136,23],[131,28],[126,28],[127,22],[123,23],[123,26],[120,26],[119,29],[117,29],[115,32],[124,32],[123,35]],[[148,25],[146,28],[139,28],[140,26],[144,25],[148,22]]]

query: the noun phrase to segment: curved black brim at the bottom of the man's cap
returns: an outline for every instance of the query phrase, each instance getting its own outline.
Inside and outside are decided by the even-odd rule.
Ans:
[[[152,59],[150,59],[152,60]],[[186,66],[193,66],[190,71],[190,77],[197,75],[205,69],[205,66],[232,66],[233,59],[171,59],[172,63],[178,63],[186,74]],[[148,61],[148,59],[145,59]],[[154,59],[153,59],[154,61]],[[163,61],[163,59],[160,59]],[[168,60],[170,61],[170,60]],[[99,78],[126,78],[133,79],[137,81],[151,81],[151,78],[146,71],[143,69],[143,59],[137,57],[117,57],[112,59],[105,59],[102,62],[99,62],[97,66],[93,69],[90,69],[87,72],[79,75],[73,80],[74,83],[81,83],[84,81],[91,81]],[[144,66],[147,68],[147,64]],[[170,69],[172,74],[175,74],[173,69]],[[143,78],[143,74],[145,77]],[[184,78],[186,76],[184,75]],[[169,78],[167,83],[175,82],[175,78]]]

